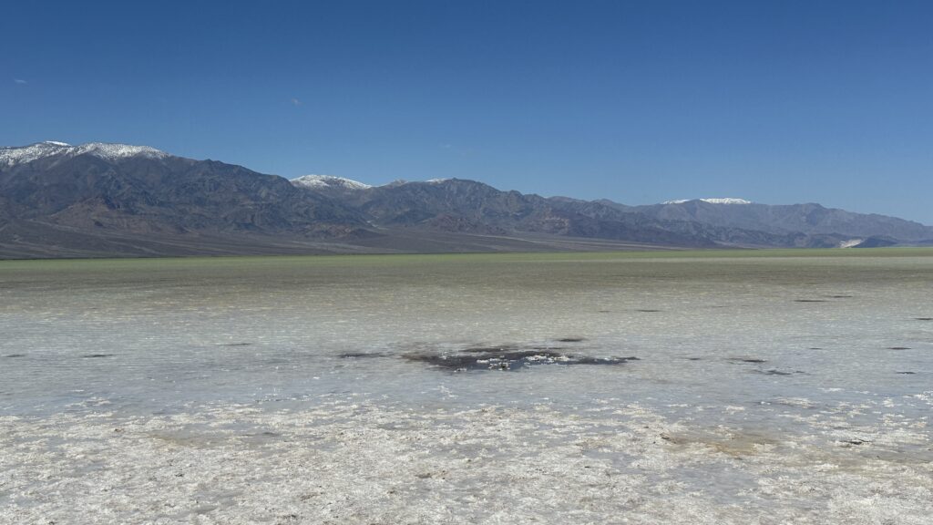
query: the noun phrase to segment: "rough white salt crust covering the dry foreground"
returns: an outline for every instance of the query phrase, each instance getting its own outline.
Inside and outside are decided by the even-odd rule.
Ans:
[[[0,521],[920,525],[933,501],[929,461],[698,434],[638,404],[309,404],[2,418]]]

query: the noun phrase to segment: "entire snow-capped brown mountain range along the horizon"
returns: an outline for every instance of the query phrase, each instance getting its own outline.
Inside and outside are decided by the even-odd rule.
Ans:
[[[933,228],[817,204],[650,206],[466,179],[294,180],[158,149],[0,148],[0,258],[931,245]]]

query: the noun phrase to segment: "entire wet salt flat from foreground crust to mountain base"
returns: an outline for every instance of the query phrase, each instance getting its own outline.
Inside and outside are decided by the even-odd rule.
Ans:
[[[372,261],[0,267],[0,522],[928,522],[928,258]]]

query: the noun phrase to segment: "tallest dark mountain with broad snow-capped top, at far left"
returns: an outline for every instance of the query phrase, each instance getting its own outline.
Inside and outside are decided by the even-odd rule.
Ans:
[[[6,237],[7,244],[16,240],[12,232],[43,231],[49,242],[67,245],[77,236],[66,232],[77,231],[96,238],[331,238],[366,225],[355,211],[282,177],[123,145],[0,149],[0,205],[0,242]]]

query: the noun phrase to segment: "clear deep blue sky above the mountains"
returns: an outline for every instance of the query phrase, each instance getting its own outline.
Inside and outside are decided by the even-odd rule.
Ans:
[[[0,75],[0,145],[933,224],[928,0],[10,0]]]

